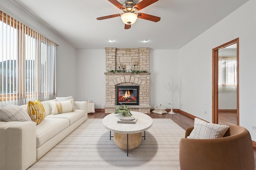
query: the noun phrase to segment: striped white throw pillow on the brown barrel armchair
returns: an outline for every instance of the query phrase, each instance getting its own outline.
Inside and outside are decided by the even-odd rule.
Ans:
[[[195,118],[194,129],[187,137],[188,139],[215,139],[223,137],[228,130],[228,125],[208,123],[202,119]]]

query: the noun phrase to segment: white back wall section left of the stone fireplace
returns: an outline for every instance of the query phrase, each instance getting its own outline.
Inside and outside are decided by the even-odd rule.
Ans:
[[[80,49],[76,53],[76,96],[78,100],[91,100],[95,108],[106,104],[105,49]]]

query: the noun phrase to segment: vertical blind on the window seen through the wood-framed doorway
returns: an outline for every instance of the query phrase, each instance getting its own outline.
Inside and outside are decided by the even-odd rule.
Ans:
[[[236,57],[219,57],[219,92],[236,92]]]

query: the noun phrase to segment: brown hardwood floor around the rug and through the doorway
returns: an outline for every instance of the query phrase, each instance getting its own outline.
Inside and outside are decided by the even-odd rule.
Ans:
[[[222,115],[219,115],[219,118],[221,121],[220,124],[229,124],[232,123],[234,124],[234,114],[223,114],[224,112],[222,112]],[[89,119],[102,119],[104,118],[106,115],[106,113],[104,113],[104,111],[96,111],[95,113],[88,113],[88,118]],[[175,123],[177,123],[180,127],[182,127],[183,129],[187,129],[188,127],[192,127],[194,125],[194,119],[191,117],[188,117],[187,115],[184,115],[183,113],[180,113],[178,111],[175,112],[175,114],[155,114],[155,113],[150,113],[148,114],[150,117],[152,117],[153,119],[157,119],[157,118],[166,118],[166,119],[172,119],[172,121],[174,121]],[[230,117],[230,116],[231,117]],[[236,124],[236,123],[235,123]],[[256,170],[256,149],[254,149],[254,170]]]

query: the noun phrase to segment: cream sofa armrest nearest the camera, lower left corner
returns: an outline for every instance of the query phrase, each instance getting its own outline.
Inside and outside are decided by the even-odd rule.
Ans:
[[[0,122],[0,162],[5,170],[26,170],[36,162],[35,122]]]

